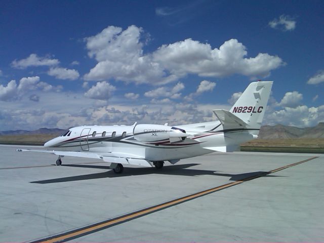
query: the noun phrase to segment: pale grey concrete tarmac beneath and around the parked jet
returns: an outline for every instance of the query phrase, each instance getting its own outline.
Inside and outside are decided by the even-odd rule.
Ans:
[[[0,145],[1,242],[324,241],[323,154],[212,153],[116,175],[17,148],[41,147]]]

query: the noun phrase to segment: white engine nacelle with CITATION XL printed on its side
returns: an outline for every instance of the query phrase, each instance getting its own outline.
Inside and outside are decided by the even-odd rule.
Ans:
[[[184,140],[188,135],[182,129],[154,124],[140,124],[134,127],[134,138],[138,141],[170,140],[171,143]],[[166,141],[168,142],[168,141]]]

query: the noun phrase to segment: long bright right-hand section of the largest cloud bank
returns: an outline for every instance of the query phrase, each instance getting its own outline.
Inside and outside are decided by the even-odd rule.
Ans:
[[[259,53],[254,58],[246,58],[247,54],[246,47],[237,39],[226,41],[219,49],[186,39],[161,46],[153,53],[153,57],[155,62],[178,77],[188,73],[213,77],[234,73],[264,77],[271,70],[285,65],[277,56]]]

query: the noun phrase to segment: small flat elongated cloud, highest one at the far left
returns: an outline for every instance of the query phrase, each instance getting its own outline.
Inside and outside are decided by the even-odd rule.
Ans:
[[[60,62],[58,59],[49,57],[38,57],[36,54],[30,54],[29,57],[21,60],[14,60],[11,65],[14,68],[25,69],[30,66],[56,66]]]

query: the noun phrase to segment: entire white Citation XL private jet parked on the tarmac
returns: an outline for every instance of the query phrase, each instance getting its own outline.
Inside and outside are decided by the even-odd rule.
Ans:
[[[97,158],[110,163],[115,173],[122,173],[123,165],[160,169],[165,161],[176,164],[182,158],[234,151],[240,143],[258,137],[272,83],[251,83],[230,111],[213,110],[216,121],[173,127],[137,123],[74,127],[46,142],[47,150],[17,151],[56,154],[57,166],[64,156]]]

